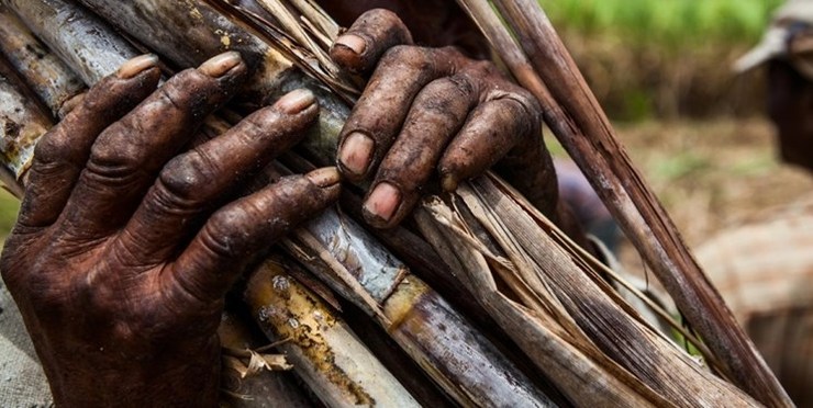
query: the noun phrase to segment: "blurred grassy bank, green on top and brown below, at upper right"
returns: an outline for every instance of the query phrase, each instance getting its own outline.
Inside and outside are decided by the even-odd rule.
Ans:
[[[616,121],[760,114],[762,72],[733,61],[783,0],[538,0]]]

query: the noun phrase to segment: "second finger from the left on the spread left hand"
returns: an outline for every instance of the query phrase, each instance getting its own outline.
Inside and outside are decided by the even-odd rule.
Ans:
[[[66,205],[65,231],[91,239],[120,228],[160,168],[245,73],[237,53],[221,54],[176,75],[102,132]]]

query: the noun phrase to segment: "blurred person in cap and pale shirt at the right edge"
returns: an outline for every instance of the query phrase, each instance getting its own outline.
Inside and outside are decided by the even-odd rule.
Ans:
[[[790,0],[777,10],[735,70],[760,66],[779,157],[813,171],[813,1]],[[695,253],[791,398],[813,406],[813,201],[723,231]]]

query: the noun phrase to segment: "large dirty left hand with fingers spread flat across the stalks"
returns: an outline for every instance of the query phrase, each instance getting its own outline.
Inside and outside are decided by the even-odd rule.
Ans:
[[[226,53],[156,90],[156,63],[125,64],[41,140],[2,253],[59,406],[214,406],[226,291],[338,195],[330,168],[216,205],[298,141],[315,100],[293,91],[179,154],[246,66]]]

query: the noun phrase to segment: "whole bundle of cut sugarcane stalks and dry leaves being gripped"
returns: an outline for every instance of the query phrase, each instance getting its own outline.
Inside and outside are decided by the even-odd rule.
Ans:
[[[552,128],[709,342],[709,349],[700,342],[697,347],[720,375],[639,318],[600,277],[611,271],[487,174],[443,200],[425,201],[415,213],[420,233],[400,229],[376,238],[348,213],[328,211],[281,246],[309,272],[290,260],[275,260],[252,275],[246,302],[270,337],[291,339],[282,349],[299,376],[331,406],[434,406],[445,403],[444,395],[465,406],[790,405],[626,161],[535,2],[523,2],[522,12],[517,3],[494,2],[532,59],[486,1],[460,2],[499,45],[515,77],[546,106]],[[0,25],[15,31],[3,37],[32,44],[2,46],[8,79],[0,91],[13,98],[4,98],[11,111],[3,112],[0,148],[12,191],[21,191],[14,182],[24,183],[35,136],[51,125],[43,107],[58,117],[80,91],[77,83],[90,86],[144,50],[171,68],[240,50],[254,77],[232,112],[292,88],[313,89],[322,114],[301,148],[314,161],[334,161],[336,136],[356,93],[354,80],[343,77],[325,53],[338,29],[310,1],[81,3],[93,13],[65,0],[3,0],[14,13],[2,9],[9,23]],[[539,45],[548,46],[548,54]],[[541,68],[544,56],[557,64]],[[232,112],[209,118],[208,132],[227,128],[236,115]],[[9,132],[22,125],[26,132]],[[619,160],[610,160],[615,154]],[[309,166],[294,156],[283,162],[293,170]],[[366,330],[358,318],[342,322],[315,299],[304,286],[318,288],[326,299],[330,290],[312,283],[308,273],[349,302],[348,307],[363,310],[400,350],[375,348],[374,355],[365,341],[375,336],[365,336],[365,341],[354,336],[354,328]],[[432,286],[443,287],[455,304]],[[307,329],[297,330],[301,326]],[[423,373],[404,373],[388,363],[388,355],[398,353]],[[431,384],[414,381],[424,375]]]

